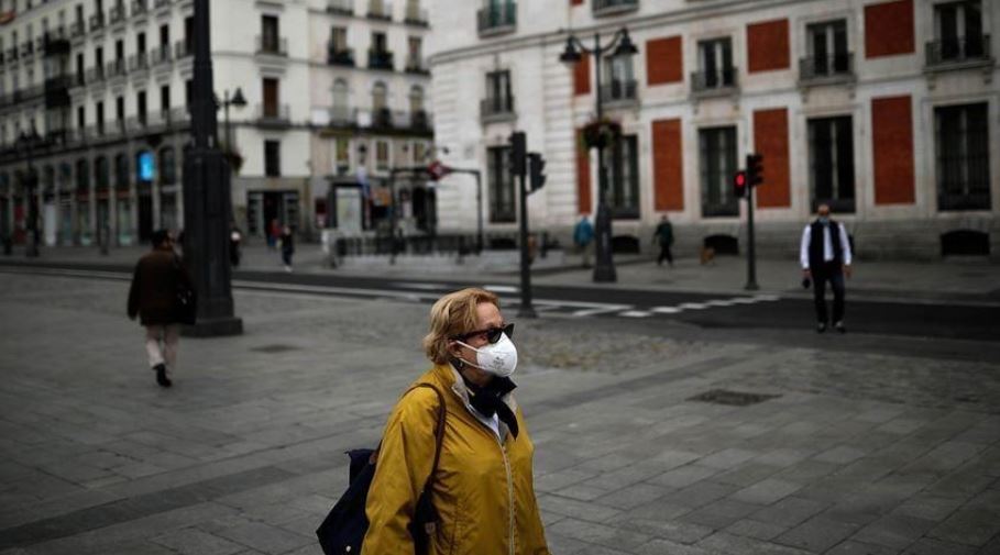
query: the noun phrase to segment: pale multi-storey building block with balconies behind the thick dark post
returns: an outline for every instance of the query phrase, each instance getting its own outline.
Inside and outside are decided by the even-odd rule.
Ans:
[[[217,96],[239,89],[246,100],[230,107],[229,132],[220,110],[219,141],[239,155],[233,217],[251,235],[273,220],[311,234],[328,221],[338,174],[367,167],[377,189],[384,153],[399,164],[427,152],[418,2],[212,0],[210,9]],[[29,164],[45,244],[92,244],[101,232],[132,244],[183,227],[191,25],[190,0],[0,1],[0,232],[23,240]],[[351,48],[356,67],[334,56]],[[37,140],[19,140],[32,129]],[[336,136],[350,153],[339,166]]]

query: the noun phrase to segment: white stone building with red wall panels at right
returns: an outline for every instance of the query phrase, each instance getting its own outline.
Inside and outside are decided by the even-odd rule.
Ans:
[[[861,256],[1000,254],[1000,3],[986,0],[437,0],[429,45],[436,142],[455,167],[482,168],[488,232],[513,233],[504,151],[514,130],[548,160],[529,198],[534,230],[568,242],[597,199],[596,159],[578,131],[605,114],[608,200],[620,249],[648,248],[661,215],[689,253],[743,243],[733,191],[747,153],[765,251],[795,252],[818,202]],[[626,27],[638,54],[568,68],[571,30],[589,46]],[[464,176],[439,187],[440,227],[471,231]]]

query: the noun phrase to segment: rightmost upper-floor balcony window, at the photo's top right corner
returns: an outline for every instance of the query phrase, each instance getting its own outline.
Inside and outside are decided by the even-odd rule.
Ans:
[[[934,62],[961,62],[988,55],[982,34],[979,0],[941,3],[934,7],[934,35],[927,55]]]

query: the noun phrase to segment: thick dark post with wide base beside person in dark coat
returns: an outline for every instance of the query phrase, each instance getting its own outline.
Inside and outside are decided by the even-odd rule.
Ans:
[[[195,0],[191,141],[184,153],[184,262],[198,291],[197,323],[185,333],[195,336],[243,332],[243,321],[233,315],[231,173],[217,141],[208,4],[209,0]]]

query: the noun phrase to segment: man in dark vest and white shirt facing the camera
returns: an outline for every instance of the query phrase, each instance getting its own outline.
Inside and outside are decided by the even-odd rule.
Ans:
[[[844,326],[844,276],[850,277],[850,241],[847,230],[839,222],[831,220],[829,206],[820,204],[816,220],[802,230],[799,260],[805,285],[812,281],[813,300],[816,306],[816,332],[823,333],[829,323],[826,315],[826,284],[834,292],[834,328],[846,333]]]

